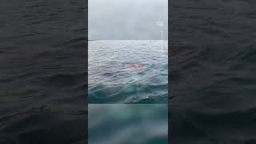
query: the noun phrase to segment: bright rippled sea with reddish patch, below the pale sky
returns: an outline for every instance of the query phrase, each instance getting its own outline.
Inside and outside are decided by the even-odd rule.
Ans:
[[[89,103],[167,103],[167,43],[161,40],[90,41]]]

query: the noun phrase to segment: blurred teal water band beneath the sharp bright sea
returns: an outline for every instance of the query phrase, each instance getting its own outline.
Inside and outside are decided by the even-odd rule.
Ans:
[[[167,144],[168,105],[89,105],[89,144]]]

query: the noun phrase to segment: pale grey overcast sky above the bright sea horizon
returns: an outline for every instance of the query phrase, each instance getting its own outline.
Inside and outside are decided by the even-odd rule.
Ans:
[[[168,0],[89,0],[88,13],[90,40],[168,39]]]

